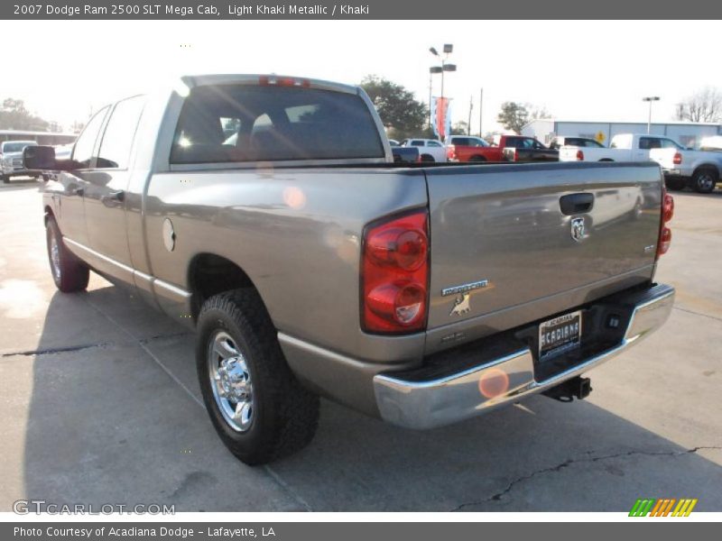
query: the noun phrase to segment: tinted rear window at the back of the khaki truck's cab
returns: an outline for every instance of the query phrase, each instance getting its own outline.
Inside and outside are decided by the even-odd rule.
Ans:
[[[356,95],[303,87],[194,88],[171,163],[383,158],[374,117]]]

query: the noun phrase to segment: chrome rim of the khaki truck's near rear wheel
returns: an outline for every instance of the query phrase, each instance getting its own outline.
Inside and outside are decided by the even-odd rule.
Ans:
[[[227,425],[245,432],[254,418],[254,388],[251,372],[236,341],[225,331],[216,331],[208,344],[208,378],[213,398]]]

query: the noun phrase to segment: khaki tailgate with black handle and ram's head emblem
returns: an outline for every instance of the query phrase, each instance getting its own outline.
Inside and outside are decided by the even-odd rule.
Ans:
[[[662,189],[657,164],[488,165],[426,175],[431,350],[653,276]]]

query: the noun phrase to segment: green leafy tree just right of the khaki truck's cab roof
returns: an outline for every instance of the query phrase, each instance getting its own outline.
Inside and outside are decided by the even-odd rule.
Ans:
[[[429,108],[416,101],[413,93],[402,85],[367,75],[361,81],[361,87],[374,102],[384,126],[389,128],[389,137],[405,139],[418,136],[429,122]]]

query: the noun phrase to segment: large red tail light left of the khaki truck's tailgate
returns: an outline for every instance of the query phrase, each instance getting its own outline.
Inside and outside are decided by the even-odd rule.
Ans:
[[[361,316],[371,333],[426,327],[429,234],[426,210],[372,225],[364,235]]]

